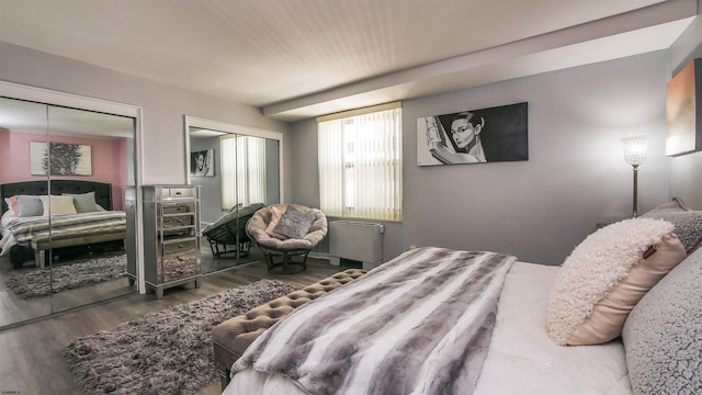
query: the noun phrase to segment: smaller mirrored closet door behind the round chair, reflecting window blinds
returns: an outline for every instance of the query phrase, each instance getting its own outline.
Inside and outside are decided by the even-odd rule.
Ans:
[[[203,274],[262,261],[246,223],[282,200],[282,134],[185,116],[189,180],[201,187]]]

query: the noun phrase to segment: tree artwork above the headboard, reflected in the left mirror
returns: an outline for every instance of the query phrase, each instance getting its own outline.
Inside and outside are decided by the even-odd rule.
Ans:
[[[92,176],[89,145],[30,143],[32,176]]]

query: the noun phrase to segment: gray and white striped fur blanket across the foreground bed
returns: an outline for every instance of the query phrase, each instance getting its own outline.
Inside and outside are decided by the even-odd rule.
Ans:
[[[418,248],[298,307],[231,371],[309,394],[471,394],[514,257]]]

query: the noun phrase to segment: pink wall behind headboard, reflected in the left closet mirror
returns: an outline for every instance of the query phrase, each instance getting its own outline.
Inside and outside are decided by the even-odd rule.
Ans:
[[[0,128],[0,182],[39,181],[46,176],[32,176],[30,143],[45,142],[46,136],[30,133],[10,133]],[[86,138],[52,136],[53,143],[89,145],[92,176],[60,176],[64,180],[83,180],[112,183],[113,208],[123,210],[123,187],[126,177],[126,138]]]

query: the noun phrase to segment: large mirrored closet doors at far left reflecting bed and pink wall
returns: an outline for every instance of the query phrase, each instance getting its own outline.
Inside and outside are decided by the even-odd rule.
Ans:
[[[0,93],[0,328],[136,291],[124,187],[137,114],[4,82]]]

